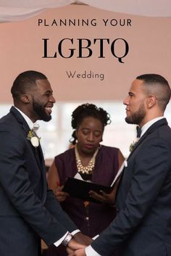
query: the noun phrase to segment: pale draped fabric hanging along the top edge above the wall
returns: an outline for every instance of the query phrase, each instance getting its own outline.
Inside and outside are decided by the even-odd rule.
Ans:
[[[170,0],[81,0],[91,7],[111,12],[149,17],[170,17]],[[0,0],[0,22],[25,20],[38,15],[46,9],[64,7],[75,3],[75,0]]]

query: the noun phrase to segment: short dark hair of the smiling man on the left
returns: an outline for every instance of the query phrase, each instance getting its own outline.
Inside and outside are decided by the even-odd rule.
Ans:
[[[12,84],[11,93],[13,99],[19,99],[20,95],[27,93],[31,86],[36,86],[36,80],[38,79],[47,78],[46,75],[35,70],[20,73]]]

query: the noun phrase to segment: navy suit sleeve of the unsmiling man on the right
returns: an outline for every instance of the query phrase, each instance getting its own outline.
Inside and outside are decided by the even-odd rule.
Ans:
[[[135,157],[134,174],[129,184],[124,207],[109,228],[93,241],[92,247],[100,255],[112,255],[112,252],[141,225],[169,176],[170,155],[166,142],[159,138],[146,141],[139,150]],[[126,169],[122,179],[124,183],[127,182],[126,172],[129,171],[129,166]],[[122,183],[120,186],[122,189]]]

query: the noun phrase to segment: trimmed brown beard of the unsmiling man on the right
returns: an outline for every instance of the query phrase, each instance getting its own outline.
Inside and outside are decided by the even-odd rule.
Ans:
[[[125,121],[133,125],[139,125],[145,116],[146,116],[145,107],[143,104],[141,104],[138,111],[134,112],[132,115],[128,117],[125,117]]]

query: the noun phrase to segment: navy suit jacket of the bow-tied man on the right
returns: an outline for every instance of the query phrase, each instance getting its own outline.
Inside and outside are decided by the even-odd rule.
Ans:
[[[164,118],[128,157],[117,191],[117,217],[93,241],[102,256],[171,255],[171,130]]]

